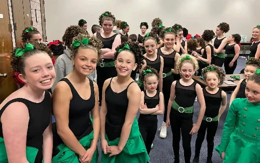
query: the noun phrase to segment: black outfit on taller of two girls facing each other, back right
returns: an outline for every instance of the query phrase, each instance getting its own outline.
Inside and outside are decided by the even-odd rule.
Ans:
[[[214,48],[218,48],[224,38],[225,37],[223,37],[221,39],[217,39],[217,37],[215,37]],[[223,47],[223,49],[225,49],[225,46]],[[212,53],[211,54],[211,64],[215,64],[219,67],[222,67],[224,60],[225,60],[225,53],[224,52],[219,52],[219,53],[214,53],[214,54]]]

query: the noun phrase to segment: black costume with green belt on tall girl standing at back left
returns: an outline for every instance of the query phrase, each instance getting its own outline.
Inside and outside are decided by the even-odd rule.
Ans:
[[[100,39],[103,43],[102,48],[109,48],[109,49],[112,49],[112,44],[116,35],[117,33],[108,38],[103,38],[100,33],[96,33],[96,37]],[[96,66],[96,73],[97,73],[97,85],[99,91],[99,105],[101,105],[102,87],[104,81],[107,78],[114,77],[117,75],[116,69],[114,67],[114,59],[103,59],[101,63],[98,62]]]

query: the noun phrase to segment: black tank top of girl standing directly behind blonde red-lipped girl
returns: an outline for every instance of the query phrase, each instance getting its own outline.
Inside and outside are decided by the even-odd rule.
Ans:
[[[171,69],[174,68],[175,54],[176,51],[174,50],[170,54],[163,54],[160,48],[158,48],[157,55],[163,57],[163,70],[162,70],[163,73],[168,73],[169,71],[171,71]]]

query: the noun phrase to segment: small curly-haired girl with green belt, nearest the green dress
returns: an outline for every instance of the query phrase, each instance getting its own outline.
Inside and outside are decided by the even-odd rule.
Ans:
[[[218,88],[218,83],[223,82],[225,77],[224,70],[214,64],[208,65],[202,70],[206,87],[202,88],[206,109],[200,127],[197,131],[195,143],[195,156],[193,163],[199,162],[199,153],[206,133],[207,141],[207,162],[212,162],[212,152],[214,148],[214,136],[216,133],[218,120],[226,108],[226,93]]]

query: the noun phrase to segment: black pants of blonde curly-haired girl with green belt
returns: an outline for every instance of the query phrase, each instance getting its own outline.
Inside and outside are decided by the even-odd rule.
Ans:
[[[180,133],[182,139],[182,147],[184,150],[185,163],[190,162],[191,156],[191,134],[193,113],[181,113],[171,107],[170,110],[170,127],[172,132],[172,147],[174,153],[174,160],[179,159],[179,141]]]

